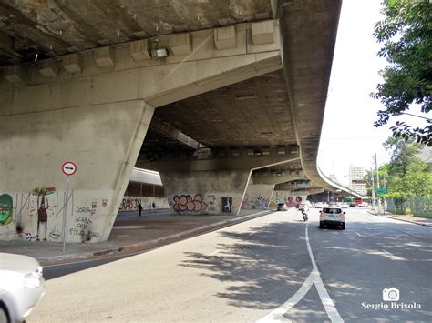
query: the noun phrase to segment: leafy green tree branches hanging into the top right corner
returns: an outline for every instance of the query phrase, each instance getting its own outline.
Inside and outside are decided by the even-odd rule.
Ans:
[[[388,65],[382,70],[384,82],[376,86],[371,96],[379,99],[386,110],[379,110],[374,126],[384,126],[390,116],[420,106],[421,112],[431,109],[432,69],[432,5],[428,0],[384,0],[384,19],[375,24],[374,37],[383,47],[379,56]],[[432,146],[432,120],[424,128],[396,122],[390,127],[394,137],[414,138]]]

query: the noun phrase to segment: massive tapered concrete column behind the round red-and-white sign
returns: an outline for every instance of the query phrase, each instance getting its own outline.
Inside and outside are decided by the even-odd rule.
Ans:
[[[0,239],[108,239],[154,108],[143,100],[0,116]]]

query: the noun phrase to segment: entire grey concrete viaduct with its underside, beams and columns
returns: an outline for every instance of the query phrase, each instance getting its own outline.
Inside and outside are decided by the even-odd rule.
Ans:
[[[316,156],[340,7],[0,1],[0,239],[60,241],[64,211],[68,242],[108,239],[133,167],[197,215],[334,189]]]

